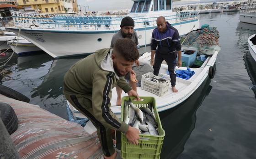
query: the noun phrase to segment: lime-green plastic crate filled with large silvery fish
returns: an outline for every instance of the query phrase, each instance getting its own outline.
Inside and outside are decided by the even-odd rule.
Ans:
[[[147,103],[151,102],[155,119],[158,122],[159,135],[144,135],[139,134],[139,144],[130,144],[125,137],[125,134],[121,133],[121,157],[123,159],[160,159],[160,153],[165,137],[165,130],[162,128],[160,117],[156,108],[154,97],[140,97],[143,101],[134,101],[134,97],[125,96],[122,98],[122,113],[121,120],[123,121],[123,104],[124,100],[132,99],[132,102],[137,107],[147,107]]]

